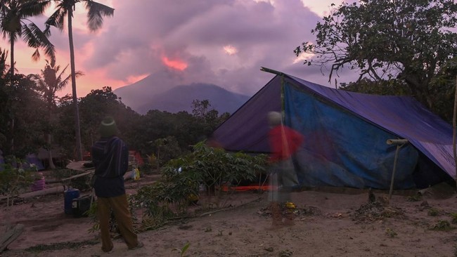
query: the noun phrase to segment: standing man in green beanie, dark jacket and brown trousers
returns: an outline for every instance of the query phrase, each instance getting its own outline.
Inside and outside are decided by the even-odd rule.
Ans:
[[[129,204],[124,187],[124,174],[129,167],[129,149],[117,136],[116,122],[105,117],[100,124],[100,140],[92,146],[92,161],[96,180],[94,190],[97,196],[98,220],[100,220],[101,249],[112,250],[110,237],[111,211],[115,215],[117,227],[130,250],[143,247],[138,241],[131,221]]]

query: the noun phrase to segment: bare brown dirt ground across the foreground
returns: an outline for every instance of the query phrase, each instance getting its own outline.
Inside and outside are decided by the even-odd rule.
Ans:
[[[134,184],[127,187],[134,192]],[[65,215],[64,195],[47,195],[10,210],[1,206],[0,224],[21,223],[25,230],[0,256],[181,256],[186,244],[182,256],[457,256],[454,189],[433,187],[420,197],[416,192],[394,192],[389,203],[382,201],[385,191],[375,191],[371,203],[367,190],[294,192],[295,225],[279,228],[271,227],[265,192],[226,195],[219,209],[201,199],[200,207],[213,208],[141,232],[142,249],[129,251],[115,239],[109,254],[88,232],[90,218]],[[58,243],[65,246],[30,249]]]

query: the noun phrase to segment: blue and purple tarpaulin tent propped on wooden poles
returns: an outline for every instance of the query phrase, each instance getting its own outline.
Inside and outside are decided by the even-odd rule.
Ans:
[[[423,188],[455,177],[452,127],[408,96],[368,95],[276,72],[213,133],[224,149],[269,152],[266,114],[304,135],[297,153],[302,186]],[[388,145],[389,139],[408,143]]]

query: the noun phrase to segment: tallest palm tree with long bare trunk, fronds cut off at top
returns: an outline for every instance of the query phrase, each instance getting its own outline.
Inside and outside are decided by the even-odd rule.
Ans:
[[[70,67],[72,75],[72,97],[73,105],[75,105],[75,131],[76,131],[76,147],[77,147],[77,160],[82,160],[82,147],[81,147],[81,130],[79,128],[79,110],[78,110],[78,99],[76,95],[76,74],[75,74],[75,49],[73,46],[73,32],[72,32],[72,18],[73,11],[76,8],[76,4],[82,2],[86,6],[87,22],[89,29],[94,32],[103,25],[103,16],[114,15],[114,9],[103,4],[96,3],[92,0],[52,0],[58,4],[56,11],[46,20],[46,25],[54,26],[63,30],[65,16],[67,16],[68,25],[68,41],[70,44]],[[46,29],[46,30],[48,30]]]

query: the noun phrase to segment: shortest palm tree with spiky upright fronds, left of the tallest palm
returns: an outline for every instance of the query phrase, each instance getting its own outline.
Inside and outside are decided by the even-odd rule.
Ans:
[[[60,65],[55,65],[55,62],[49,62],[46,60],[46,65],[44,66],[44,70],[41,70],[41,76],[38,74],[31,74],[30,79],[34,80],[37,83],[37,91],[42,93],[42,97],[44,102],[46,103],[47,108],[47,119],[49,126],[52,127],[52,117],[53,117],[53,110],[56,109],[56,93],[57,91],[62,90],[67,86],[68,81],[70,81],[71,75],[65,77],[65,70],[67,70],[68,65],[60,71]],[[76,72],[76,76],[79,77],[82,75],[82,72]],[[46,133],[46,143],[48,145],[48,158],[49,158],[49,167],[51,169],[56,169],[56,166],[52,160],[52,129],[48,129]]]

